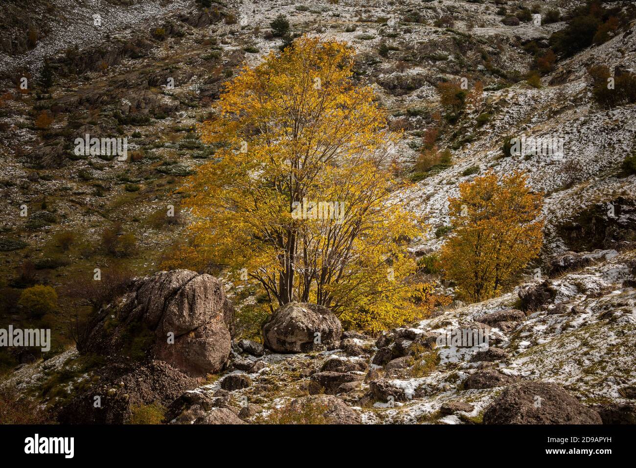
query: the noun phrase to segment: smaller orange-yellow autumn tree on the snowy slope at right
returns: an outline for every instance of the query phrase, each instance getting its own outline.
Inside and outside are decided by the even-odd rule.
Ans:
[[[464,299],[484,301],[500,295],[539,253],[541,194],[530,193],[522,173],[492,171],[460,184],[459,192],[449,199],[453,235],[441,263]]]

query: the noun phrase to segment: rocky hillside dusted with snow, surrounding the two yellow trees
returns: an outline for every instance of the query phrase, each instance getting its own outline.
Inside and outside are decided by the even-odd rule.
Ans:
[[[4,386],[21,399],[64,422],[121,423],[144,411],[173,423],[634,422],[636,175],[621,164],[634,150],[636,106],[599,103],[590,68],[636,71],[635,2],[605,2],[620,25],[538,70],[584,1],[6,4],[0,328],[53,329],[48,353],[0,353]],[[413,255],[444,243],[460,183],[489,169],[529,174],[544,194],[545,241],[517,287],[373,337],[294,305],[269,319],[280,323],[266,325],[263,347],[259,326],[257,336],[230,320],[240,325],[249,291],[207,274],[156,273],[187,242],[179,181],[214,157],[196,125],[242,64],[284,44],[270,31],[280,14],[292,36],[352,45],[356,80],[403,131],[392,152],[413,185],[395,197],[430,227]],[[439,83],[462,79],[458,110]],[[127,159],[78,155],[85,134],[127,138]],[[511,136],[559,138],[563,153],[504,155]],[[448,157],[423,162],[433,145]],[[95,268],[116,278],[109,290],[90,290]],[[19,299],[36,284],[55,288],[59,308],[34,319]],[[93,309],[72,336],[69,320]],[[306,336],[316,329],[320,346]],[[488,343],[440,343],[453,329],[481,330]],[[170,332],[176,348],[165,346]]]

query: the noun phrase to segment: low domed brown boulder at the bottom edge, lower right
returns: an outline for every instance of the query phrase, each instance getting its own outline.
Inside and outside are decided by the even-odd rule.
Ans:
[[[485,424],[600,424],[587,408],[554,383],[522,382],[506,388],[486,409]]]

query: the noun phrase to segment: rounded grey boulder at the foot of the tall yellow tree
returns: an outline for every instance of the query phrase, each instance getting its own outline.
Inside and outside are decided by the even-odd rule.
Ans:
[[[335,350],[341,335],[340,320],[329,309],[303,302],[285,304],[263,325],[263,344],[277,353]]]

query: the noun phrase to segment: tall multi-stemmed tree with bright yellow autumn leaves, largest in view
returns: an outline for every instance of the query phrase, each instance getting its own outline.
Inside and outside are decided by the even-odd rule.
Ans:
[[[303,37],[228,83],[200,127],[215,160],[181,189],[194,241],[173,265],[226,266],[272,310],[316,302],[361,329],[430,309],[434,294],[414,288],[404,253],[421,227],[391,200],[397,136],[373,90],[352,80],[353,64],[347,45]],[[424,300],[413,303],[414,292]]]

